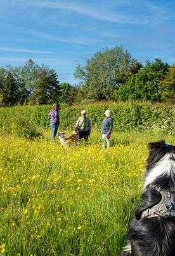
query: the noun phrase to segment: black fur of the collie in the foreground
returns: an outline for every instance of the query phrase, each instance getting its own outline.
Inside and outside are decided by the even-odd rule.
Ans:
[[[167,145],[164,141],[148,144],[149,157],[145,178],[152,172],[153,167],[169,154],[169,161],[175,161],[175,146]],[[168,160],[167,160],[168,161]],[[155,189],[175,191],[175,170],[169,174],[158,175],[148,184],[143,192],[141,204],[136,210],[134,220],[128,231],[128,241],[131,252],[122,252],[119,256],[175,256],[175,219],[152,217],[141,218],[141,213],[147,208],[159,203],[162,196]]]

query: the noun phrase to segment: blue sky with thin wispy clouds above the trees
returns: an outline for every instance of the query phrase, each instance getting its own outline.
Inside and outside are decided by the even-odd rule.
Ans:
[[[0,66],[32,58],[74,85],[77,64],[106,46],[143,64],[175,63],[174,0],[0,0]]]

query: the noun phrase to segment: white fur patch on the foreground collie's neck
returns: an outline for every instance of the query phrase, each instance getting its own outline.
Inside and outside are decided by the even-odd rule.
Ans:
[[[173,153],[167,153],[164,157],[153,166],[150,173],[145,178],[145,184],[143,189],[153,183],[158,177],[167,175],[171,176],[172,173],[175,174],[175,161],[172,160],[172,157],[175,159],[175,155]]]

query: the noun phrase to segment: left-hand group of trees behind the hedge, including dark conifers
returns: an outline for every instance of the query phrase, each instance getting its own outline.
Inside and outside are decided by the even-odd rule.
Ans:
[[[75,87],[60,83],[58,75],[47,66],[39,66],[29,59],[23,67],[0,68],[0,96],[4,106],[23,104],[71,103]]]

